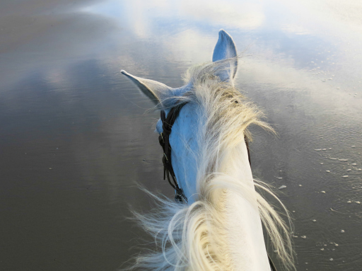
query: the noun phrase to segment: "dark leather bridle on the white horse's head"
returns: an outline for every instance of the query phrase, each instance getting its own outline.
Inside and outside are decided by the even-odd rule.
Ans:
[[[177,116],[180,113],[180,110],[182,106],[184,106],[186,103],[180,103],[179,105],[174,106],[170,109],[170,112],[168,113],[166,117],[165,110],[161,110],[160,112],[160,119],[162,122],[162,129],[163,132],[160,133],[158,136],[158,141],[160,142],[160,145],[163,149],[163,180],[167,177],[168,183],[175,189],[175,202],[178,203],[187,203],[187,197],[185,196],[184,191],[177,183],[175,172],[173,171],[173,164],[171,163],[171,146],[170,146],[170,134],[172,132],[173,124],[175,123]],[[244,137],[246,148],[247,148],[247,158],[249,159],[250,167],[252,166],[252,163],[250,161],[250,149],[249,149],[249,142],[247,141],[247,137],[245,135]],[[172,181],[171,181],[171,178]],[[274,263],[271,261],[271,258],[268,255],[269,259],[269,265],[271,267],[272,271],[276,271],[276,267]]]

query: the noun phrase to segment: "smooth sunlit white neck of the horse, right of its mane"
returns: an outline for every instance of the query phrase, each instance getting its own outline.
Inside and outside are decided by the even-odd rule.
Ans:
[[[223,159],[220,171],[242,182],[246,190],[240,195],[240,191],[226,189],[221,197],[231,265],[235,270],[270,270],[245,142]]]

